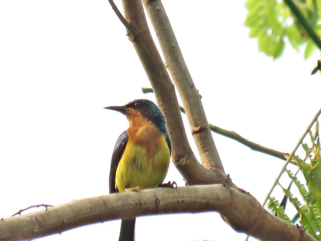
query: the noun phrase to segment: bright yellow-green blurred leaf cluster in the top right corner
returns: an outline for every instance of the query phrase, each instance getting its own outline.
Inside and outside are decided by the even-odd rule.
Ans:
[[[316,33],[321,35],[321,0],[298,0],[295,4]],[[244,25],[250,28],[249,37],[258,38],[259,51],[265,55],[272,56],[273,59],[282,55],[285,48],[284,35],[298,52],[300,45],[307,43],[305,59],[316,49],[307,32],[283,1],[247,0],[245,6],[248,14]]]

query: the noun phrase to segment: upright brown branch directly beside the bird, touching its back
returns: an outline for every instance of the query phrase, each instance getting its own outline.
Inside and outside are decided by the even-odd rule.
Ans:
[[[163,111],[166,127],[172,142],[172,160],[188,185],[222,183],[227,176],[215,170],[204,168],[196,160],[185,134],[185,129],[178,109],[178,102],[166,68],[160,58],[149,32],[143,6],[137,0],[122,0],[125,17],[137,30],[129,34],[134,48],[143,64],[147,76],[155,91],[160,109]],[[175,116],[175,118],[173,118]],[[208,125],[207,125],[208,126]]]

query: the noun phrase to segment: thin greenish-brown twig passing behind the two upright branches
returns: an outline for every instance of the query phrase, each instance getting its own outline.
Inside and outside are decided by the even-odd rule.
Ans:
[[[142,88],[142,92],[144,94],[147,94],[147,93],[153,93],[153,89],[152,88]],[[185,109],[184,107],[182,106],[179,106],[179,110],[185,114]],[[247,147],[250,147],[252,150],[255,150],[255,151],[259,151],[259,152],[262,152],[262,153],[265,153],[265,154],[268,154],[268,155],[271,155],[271,156],[275,156],[275,157],[278,157],[282,160],[287,160],[288,156],[290,155],[289,153],[283,153],[283,152],[280,152],[280,151],[276,151],[276,150],[273,150],[271,148],[267,148],[267,147],[263,147],[259,144],[256,144],[252,141],[249,141],[247,139],[245,139],[244,137],[241,137],[238,133],[235,133],[234,131],[229,131],[229,130],[225,130],[225,129],[222,129],[220,127],[217,127],[217,126],[214,126],[212,124],[209,124],[210,126],[210,129],[217,133],[217,134],[220,134],[222,136],[225,136],[225,137],[228,137],[228,138],[231,138],[233,140],[236,140],[238,141],[239,143],[247,146]],[[296,162],[295,161],[292,161],[291,160],[291,163],[295,164],[296,165]]]

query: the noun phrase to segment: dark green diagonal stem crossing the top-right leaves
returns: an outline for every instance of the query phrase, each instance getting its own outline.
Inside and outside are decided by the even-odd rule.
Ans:
[[[304,28],[304,30],[308,33],[309,37],[313,40],[313,42],[317,45],[317,47],[321,50],[321,40],[316,32],[312,29],[311,25],[305,19],[305,17],[300,12],[299,8],[293,3],[292,0],[284,0],[284,2],[291,9],[291,12],[298,19],[300,25]]]

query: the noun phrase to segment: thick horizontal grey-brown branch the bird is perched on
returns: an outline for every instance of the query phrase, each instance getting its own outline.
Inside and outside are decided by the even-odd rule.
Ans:
[[[220,212],[236,231],[261,240],[315,240],[263,209],[249,193],[214,184],[122,192],[1,219],[0,241],[30,240],[114,219],[204,211]]]

